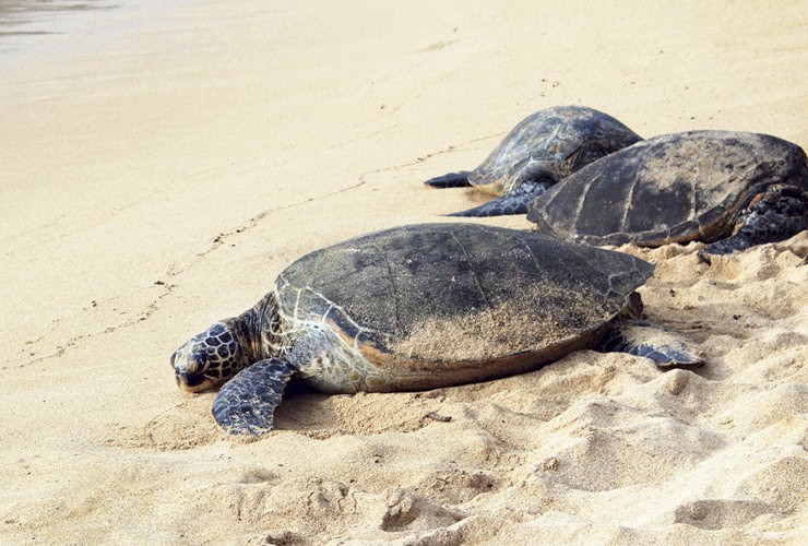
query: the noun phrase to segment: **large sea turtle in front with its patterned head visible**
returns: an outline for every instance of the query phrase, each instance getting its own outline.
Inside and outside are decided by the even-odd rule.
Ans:
[[[445,387],[518,373],[583,347],[703,360],[640,322],[653,265],[524,230],[421,224],[311,252],[242,314],[171,357],[187,391],[223,384],[230,434],[260,435],[295,375],[329,393]]]

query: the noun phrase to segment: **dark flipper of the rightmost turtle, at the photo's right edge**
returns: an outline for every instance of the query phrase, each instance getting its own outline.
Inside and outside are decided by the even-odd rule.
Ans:
[[[736,222],[735,233],[708,245],[709,254],[728,254],[756,245],[776,242],[808,229],[808,192],[792,187],[772,187],[752,199]]]

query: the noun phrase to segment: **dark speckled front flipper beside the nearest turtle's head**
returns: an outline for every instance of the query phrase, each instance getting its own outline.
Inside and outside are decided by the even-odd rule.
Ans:
[[[213,417],[231,435],[269,432],[286,383],[296,371],[278,358],[260,360],[241,370],[219,391],[213,403]]]

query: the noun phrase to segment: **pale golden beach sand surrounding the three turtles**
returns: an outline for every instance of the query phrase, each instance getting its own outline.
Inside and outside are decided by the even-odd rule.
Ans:
[[[242,443],[168,364],[300,254],[478,202],[420,182],[538,108],[807,145],[808,4],[142,4],[0,58],[0,543],[808,543],[806,234],[633,250],[698,372],[300,393]]]

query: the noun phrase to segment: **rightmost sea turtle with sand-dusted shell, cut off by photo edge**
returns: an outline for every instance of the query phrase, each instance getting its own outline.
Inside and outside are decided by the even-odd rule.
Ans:
[[[615,152],[550,188],[527,219],[592,245],[709,242],[722,254],[808,227],[808,166],[775,136],[691,131]]]

